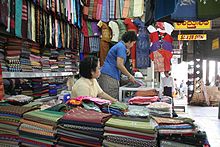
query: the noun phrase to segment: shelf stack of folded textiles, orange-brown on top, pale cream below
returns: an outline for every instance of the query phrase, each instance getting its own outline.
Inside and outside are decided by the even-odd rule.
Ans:
[[[35,72],[39,72],[42,69],[41,66],[41,56],[40,56],[40,46],[39,44],[32,44],[31,47],[31,55],[30,55],[30,61],[32,70]]]

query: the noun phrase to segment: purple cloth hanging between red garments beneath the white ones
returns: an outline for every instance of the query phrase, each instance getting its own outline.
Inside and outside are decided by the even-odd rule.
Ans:
[[[150,51],[154,52],[160,48],[163,48],[163,49],[170,51],[170,52],[173,51],[173,45],[167,41],[164,41],[164,40],[163,40],[163,42],[157,41],[157,42],[153,43],[153,45],[150,47]]]

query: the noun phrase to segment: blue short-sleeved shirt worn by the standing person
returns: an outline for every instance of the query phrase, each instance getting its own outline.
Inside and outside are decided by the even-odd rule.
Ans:
[[[126,61],[126,46],[120,41],[115,44],[108,52],[105,59],[104,65],[102,66],[101,73],[111,76],[116,80],[120,80],[121,71],[117,68],[117,57],[124,59],[124,64]]]

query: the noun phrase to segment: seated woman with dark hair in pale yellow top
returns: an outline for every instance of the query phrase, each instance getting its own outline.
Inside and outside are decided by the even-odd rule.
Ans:
[[[87,57],[80,62],[79,65],[79,78],[72,88],[72,97],[90,96],[100,97],[112,102],[117,100],[107,93],[105,93],[97,82],[100,75],[98,59],[96,57]]]

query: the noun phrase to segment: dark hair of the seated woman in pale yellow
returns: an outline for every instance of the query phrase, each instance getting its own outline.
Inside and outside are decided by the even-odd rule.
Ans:
[[[79,64],[79,74],[87,79],[92,79],[92,71],[96,71],[98,59],[96,57],[86,57]]]

